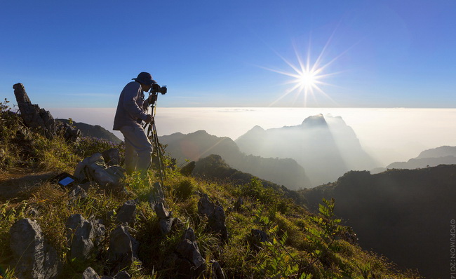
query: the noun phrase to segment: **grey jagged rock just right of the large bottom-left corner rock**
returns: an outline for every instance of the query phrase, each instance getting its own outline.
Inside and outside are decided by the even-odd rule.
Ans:
[[[84,219],[82,215],[75,214],[67,219],[67,245],[69,246],[70,261],[75,262],[86,261],[93,251],[93,239],[95,238],[95,230],[92,223]]]

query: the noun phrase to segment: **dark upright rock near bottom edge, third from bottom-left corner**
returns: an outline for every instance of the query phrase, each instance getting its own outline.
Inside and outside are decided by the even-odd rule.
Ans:
[[[110,266],[111,274],[116,274],[133,264],[131,238],[125,226],[119,225],[112,231],[107,252],[107,263]]]

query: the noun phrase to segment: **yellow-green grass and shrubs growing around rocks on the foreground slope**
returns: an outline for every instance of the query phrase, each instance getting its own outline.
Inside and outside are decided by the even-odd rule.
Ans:
[[[47,140],[4,110],[0,118],[0,149],[4,150],[0,165],[2,180],[13,170],[69,172],[84,156],[109,145],[95,140],[69,144],[61,137]],[[124,185],[128,193],[105,192],[95,186],[89,189],[87,198],[69,200],[68,190],[52,182],[42,182],[15,198],[2,200],[0,266],[6,268],[0,278],[14,278],[8,231],[14,222],[25,217],[36,219],[45,238],[58,250],[65,263],[64,278],[81,278],[87,266],[102,274],[103,256],[80,265],[67,259],[65,222],[70,215],[80,213],[83,217],[104,219],[107,231],[112,231],[115,226],[109,212],[134,198],[138,200],[138,214],[131,231],[142,243],[139,254],[142,263],[135,262],[128,269],[133,278],[174,278],[177,267],[167,264],[167,255],[175,250],[182,232],[189,227],[196,233],[206,262],[218,261],[227,278],[417,278],[398,273],[388,261],[356,245],[351,229],[333,216],[334,200],[323,200],[319,214],[314,215],[289,199],[284,200],[279,191],[264,188],[258,179],[248,184],[223,184],[184,177],[178,168],[168,168],[166,174],[166,203],[176,220],[166,236],[159,232],[159,219],[148,202],[150,185],[159,180],[153,172],[149,181],[142,181],[137,175],[127,177]],[[199,215],[197,204],[201,193],[207,193],[210,200],[216,200],[224,208],[227,242],[208,231],[206,217]],[[236,204],[240,199],[243,203]],[[43,213],[36,215],[32,209]],[[266,232],[268,240],[260,242],[252,229]],[[102,245],[106,251],[109,237]],[[211,276],[211,269],[207,268],[201,278]]]

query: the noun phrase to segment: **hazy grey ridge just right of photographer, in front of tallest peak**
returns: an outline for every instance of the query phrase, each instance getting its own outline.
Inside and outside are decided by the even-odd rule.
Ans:
[[[159,137],[161,144],[167,144],[166,152],[177,159],[178,165],[198,161],[211,154],[220,155],[231,168],[248,172],[261,179],[287,186],[289,189],[309,187],[309,178],[295,160],[290,158],[262,158],[246,155],[239,150],[236,142],[229,137],[216,137],[204,130],[184,135],[180,132]]]

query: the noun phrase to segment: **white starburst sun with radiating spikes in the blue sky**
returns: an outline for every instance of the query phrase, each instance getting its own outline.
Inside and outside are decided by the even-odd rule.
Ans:
[[[295,103],[298,99],[302,99],[302,105],[304,107],[307,107],[309,97],[312,97],[313,100],[316,102],[317,95],[323,95],[331,102],[336,103],[323,90],[323,88],[326,88],[326,86],[334,86],[333,84],[330,84],[325,80],[330,76],[339,74],[339,72],[328,72],[328,67],[330,66],[330,64],[333,64],[333,62],[335,62],[335,60],[337,60],[337,58],[339,58],[343,53],[333,58],[329,62],[323,63],[323,60],[325,60],[324,58],[326,58],[324,57],[325,50],[328,47],[329,42],[330,40],[328,40],[326,46],[323,47],[321,53],[314,60],[311,60],[310,46],[309,48],[307,48],[307,57],[305,60],[302,59],[301,55],[299,54],[300,51],[298,51],[297,47],[293,46],[295,48],[295,55],[297,60],[297,63],[295,64],[286,60],[279,53],[276,53],[276,55],[279,55],[279,57],[281,57],[281,59],[284,62],[286,62],[286,64],[288,64],[288,66],[291,68],[291,70],[288,72],[262,67],[263,69],[267,69],[269,71],[290,76],[293,78],[286,82],[286,84],[291,84],[292,86],[288,88],[286,92],[283,93],[283,95],[277,98],[277,100],[272,102],[269,106],[273,106],[274,104],[276,104],[276,102],[279,102],[279,100],[283,99],[283,97],[290,95],[290,93],[295,93]]]

